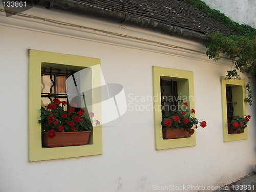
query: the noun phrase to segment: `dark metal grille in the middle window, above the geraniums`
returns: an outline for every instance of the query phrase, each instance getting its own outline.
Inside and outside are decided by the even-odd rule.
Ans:
[[[178,109],[177,81],[160,79],[162,117],[170,115],[170,111]]]

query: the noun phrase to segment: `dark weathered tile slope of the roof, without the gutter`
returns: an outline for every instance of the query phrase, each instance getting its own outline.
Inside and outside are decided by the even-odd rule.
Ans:
[[[203,34],[212,32],[219,32],[223,35],[236,34],[214,18],[196,10],[185,0],[80,0],[77,2],[100,9],[151,19],[165,25],[178,26]]]

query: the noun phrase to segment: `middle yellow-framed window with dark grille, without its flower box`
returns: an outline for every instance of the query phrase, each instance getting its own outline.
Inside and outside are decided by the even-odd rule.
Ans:
[[[193,72],[153,67],[153,96],[156,150],[196,145],[195,134],[189,138],[163,139],[161,125],[162,115],[167,115],[170,108],[183,102],[188,102],[190,109],[195,108]],[[163,108],[167,97],[170,107]]]

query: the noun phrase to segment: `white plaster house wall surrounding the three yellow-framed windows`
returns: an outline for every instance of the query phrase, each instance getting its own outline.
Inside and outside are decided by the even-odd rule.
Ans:
[[[44,15],[40,11],[28,13]],[[222,138],[220,76],[230,69],[229,61],[217,63],[203,54],[59,28],[35,20],[27,22],[3,14],[0,13],[1,192],[146,192],[157,191],[154,189],[160,186],[219,186],[254,170],[256,114],[253,106],[247,107],[252,116],[248,139],[224,143]],[[166,43],[178,44],[181,40],[158,37],[157,33],[143,30],[133,34],[129,26],[123,30],[117,24],[93,23],[92,19],[63,17],[51,11],[45,16],[88,26],[92,23],[98,29],[119,30]],[[30,25],[33,28],[29,28]],[[57,31],[60,34],[54,33]],[[192,41],[179,42],[179,45],[205,50]],[[102,155],[28,162],[28,49],[100,58],[106,82],[123,85],[130,107],[122,117],[103,125]],[[131,108],[135,104],[133,96],[153,95],[152,66],[194,72],[196,115],[208,124],[205,129],[197,130],[196,146],[156,151],[153,110]],[[153,108],[151,100],[140,100],[137,104],[141,109]]]

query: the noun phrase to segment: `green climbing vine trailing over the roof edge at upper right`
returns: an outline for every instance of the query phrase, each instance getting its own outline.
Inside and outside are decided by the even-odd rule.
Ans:
[[[238,34],[224,36],[220,33],[211,33],[207,35],[209,37],[209,42],[206,44],[206,48],[208,49],[206,55],[209,59],[219,60],[223,55],[226,55],[231,59],[232,67],[230,71],[227,71],[226,78],[240,79],[238,71],[255,75],[256,30],[246,24],[239,25],[238,23],[233,22],[220,11],[210,9],[200,0],[186,1],[193,5],[195,9],[203,11]],[[250,82],[246,84],[246,89],[248,95],[245,101],[251,105],[252,92]]]

